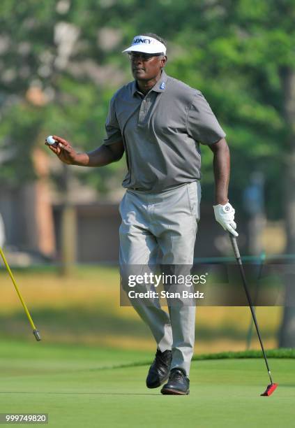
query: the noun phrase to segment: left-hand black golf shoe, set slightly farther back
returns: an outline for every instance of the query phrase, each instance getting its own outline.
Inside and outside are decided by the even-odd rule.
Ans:
[[[146,386],[148,388],[158,388],[168,379],[171,361],[171,350],[161,352],[157,349],[156,357],[153,360],[153,364],[151,364],[148,376],[146,377]]]

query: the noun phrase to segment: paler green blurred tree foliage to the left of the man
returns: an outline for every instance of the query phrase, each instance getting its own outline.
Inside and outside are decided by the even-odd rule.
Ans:
[[[82,150],[102,142],[114,91],[109,78],[122,83],[124,76],[109,69],[105,48],[97,44],[105,19],[97,10],[94,1],[1,2],[2,180],[12,185],[33,180],[33,146],[48,134],[61,134]],[[80,178],[105,192],[118,169],[123,163]]]

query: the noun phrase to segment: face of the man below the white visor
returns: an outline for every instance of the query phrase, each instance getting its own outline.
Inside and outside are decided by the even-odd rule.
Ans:
[[[131,71],[135,80],[152,80],[165,66],[167,57],[158,54],[130,52]]]

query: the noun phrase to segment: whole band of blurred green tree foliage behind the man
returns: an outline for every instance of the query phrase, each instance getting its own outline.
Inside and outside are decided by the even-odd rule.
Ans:
[[[1,166],[1,178],[31,178],[30,152],[42,134],[61,134],[81,150],[100,145],[109,98],[131,80],[120,52],[135,34],[153,31],[168,41],[167,73],[201,90],[227,133],[230,197],[241,205],[251,171],[264,171],[268,216],[281,215],[277,183],[289,150],[282,69],[295,67],[294,0],[73,0],[63,10],[60,3],[1,2],[0,38],[7,47],[0,43],[0,145],[10,141],[20,157]],[[56,64],[54,28],[60,22],[79,31],[64,67]],[[117,35],[110,48],[98,43],[102,29]],[[121,83],[112,73],[96,81],[85,71],[89,62],[111,67]],[[24,102],[28,88],[36,84],[51,94],[44,106]],[[211,201],[212,156],[207,148],[202,152],[203,195]],[[110,178],[117,176],[119,183],[124,169],[122,160],[83,171],[80,178],[107,191]]]

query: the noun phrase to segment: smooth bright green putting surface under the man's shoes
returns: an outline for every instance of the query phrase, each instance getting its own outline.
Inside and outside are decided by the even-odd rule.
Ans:
[[[294,359],[192,362],[190,395],[148,390],[146,352],[0,343],[1,412],[49,413],[52,427],[268,427],[294,423]],[[119,364],[125,366],[119,367]],[[116,366],[117,367],[114,367]]]

